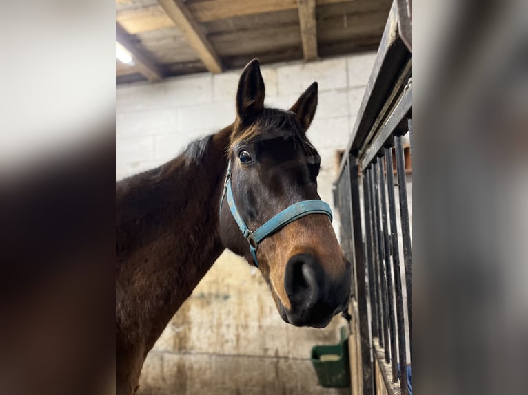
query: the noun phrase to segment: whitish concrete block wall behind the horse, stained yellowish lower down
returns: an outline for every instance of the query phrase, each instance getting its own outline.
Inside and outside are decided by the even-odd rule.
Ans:
[[[319,193],[331,205],[335,152],[347,145],[375,56],[262,67],[268,107],[290,108],[318,82],[308,137],[321,154]],[[163,164],[188,142],[229,125],[240,72],[118,86],[116,179]],[[318,387],[309,361],[312,346],[336,343],[344,323],[336,317],[323,330],[287,325],[258,270],[226,251],[149,353],[139,394],[348,394]]]

